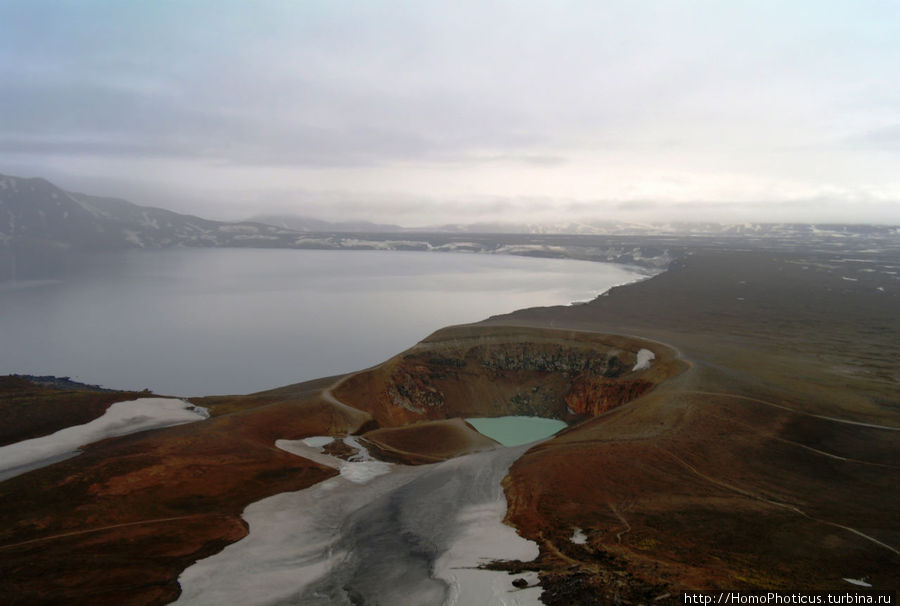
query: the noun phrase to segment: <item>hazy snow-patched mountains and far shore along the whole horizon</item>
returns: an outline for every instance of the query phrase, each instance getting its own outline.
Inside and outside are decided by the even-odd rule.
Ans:
[[[619,262],[640,262],[642,257],[648,256],[640,252],[634,254],[631,249],[623,252],[620,250],[622,243],[618,240],[604,241],[615,242],[618,249],[604,248],[605,243],[592,241],[589,244],[593,249],[575,254],[565,247],[574,246],[576,240],[572,238],[576,236],[640,236],[686,241],[694,241],[696,238],[737,238],[749,242],[813,238],[837,242],[894,242],[900,239],[900,227],[596,221],[555,224],[456,223],[404,228],[393,223],[328,222],[296,215],[258,215],[247,221],[223,222],[162,208],[139,206],[118,198],[69,192],[41,178],[0,175],[0,250],[7,251],[37,253],[179,246],[462,250],[576,256]],[[564,237],[569,239],[560,239]],[[577,243],[583,247],[588,241],[577,240]],[[596,248],[597,246],[600,248]]]

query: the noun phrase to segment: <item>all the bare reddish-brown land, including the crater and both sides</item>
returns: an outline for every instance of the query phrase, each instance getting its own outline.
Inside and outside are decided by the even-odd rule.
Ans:
[[[547,604],[852,590],[845,577],[896,589],[900,293],[848,271],[698,254],[587,305],[439,331],[344,378],[195,399],[211,419],[0,483],[0,596],[166,603],[183,568],[245,534],[246,505],[335,473],[275,440],[362,433],[428,462],[490,445],[442,420],[502,414],[571,425],[504,483],[507,521],[541,548],[508,566],[538,570]],[[634,371],[642,348],[656,358]],[[2,387],[6,404],[26,388]],[[59,406],[27,389],[25,416]]]

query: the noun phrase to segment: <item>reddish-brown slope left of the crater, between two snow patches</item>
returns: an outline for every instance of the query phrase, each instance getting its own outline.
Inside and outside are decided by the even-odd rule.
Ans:
[[[198,399],[213,418],[104,440],[0,482],[0,601],[171,602],[184,568],[246,535],[244,507],[335,474],[274,446],[370,420],[319,400],[330,383]]]

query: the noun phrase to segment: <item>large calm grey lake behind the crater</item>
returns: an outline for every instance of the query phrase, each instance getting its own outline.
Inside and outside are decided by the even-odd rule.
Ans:
[[[165,250],[88,256],[0,282],[0,374],[192,396],[359,370],[450,324],[586,301],[619,265],[390,251]]]

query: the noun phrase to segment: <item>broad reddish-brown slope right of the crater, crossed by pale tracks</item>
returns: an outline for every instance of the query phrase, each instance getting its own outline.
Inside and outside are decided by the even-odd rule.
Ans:
[[[513,465],[507,520],[541,545],[545,603],[900,587],[891,275],[697,255],[589,305],[488,322],[641,334],[691,363]]]

